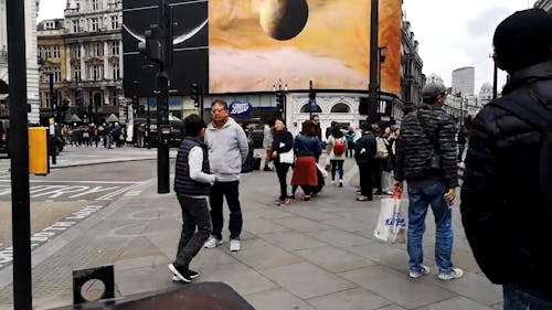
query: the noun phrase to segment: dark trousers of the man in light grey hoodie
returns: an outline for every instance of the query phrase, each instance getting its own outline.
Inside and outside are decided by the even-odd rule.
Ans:
[[[214,182],[211,188],[211,220],[213,222],[213,236],[222,239],[222,226],[224,217],[222,214],[223,197],[226,197],[226,203],[230,209],[230,239],[240,239],[242,233],[242,209],[240,206],[240,181],[232,182]]]

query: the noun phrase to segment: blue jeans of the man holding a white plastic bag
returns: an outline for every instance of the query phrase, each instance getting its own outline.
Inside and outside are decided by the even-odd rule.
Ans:
[[[445,182],[439,181],[425,188],[415,188],[408,184],[408,267],[411,271],[422,271],[424,249],[422,242],[425,232],[425,215],[431,205],[435,216],[436,244],[435,261],[439,274],[450,274],[453,261],[453,224],[452,212],[444,194],[448,191]]]

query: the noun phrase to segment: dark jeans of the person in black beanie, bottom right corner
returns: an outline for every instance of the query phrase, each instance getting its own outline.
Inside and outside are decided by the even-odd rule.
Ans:
[[[503,285],[505,310],[551,310],[552,300],[539,298],[517,285]]]

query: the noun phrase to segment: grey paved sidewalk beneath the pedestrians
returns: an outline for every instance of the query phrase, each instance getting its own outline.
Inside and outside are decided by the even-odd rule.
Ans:
[[[351,167],[347,160],[346,179],[353,183]],[[277,191],[275,172],[243,174],[242,250],[229,252],[225,228],[225,243],[201,250],[192,261],[199,280],[229,284],[258,310],[501,309],[501,288],[480,274],[457,205],[454,261],[466,274],[443,282],[433,258],[432,215],[424,243],[432,272],[410,279],[405,246],[372,237],[378,201],[354,201],[350,184],[328,185],[310,202],[280,207],[274,204]],[[177,249],[180,217],[174,194],[159,195],[150,182],[33,250],[35,309],[71,304],[72,270],[93,266],[115,265],[117,296],[180,286],[167,268]],[[11,277],[12,267],[0,271],[0,309],[12,308]]]

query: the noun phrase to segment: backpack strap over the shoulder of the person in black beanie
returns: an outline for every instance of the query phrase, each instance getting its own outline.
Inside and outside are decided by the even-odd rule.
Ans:
[[[551,100],[542,98],[533,88],[528,88],[528,92],[529,97],[533,100],[532,104],[520,105],[517,100],[502,97],[490,105],[513,114],[539,132],[546,135],[552,131],[552,110],[546,108],[546,105],[552,106]]]

